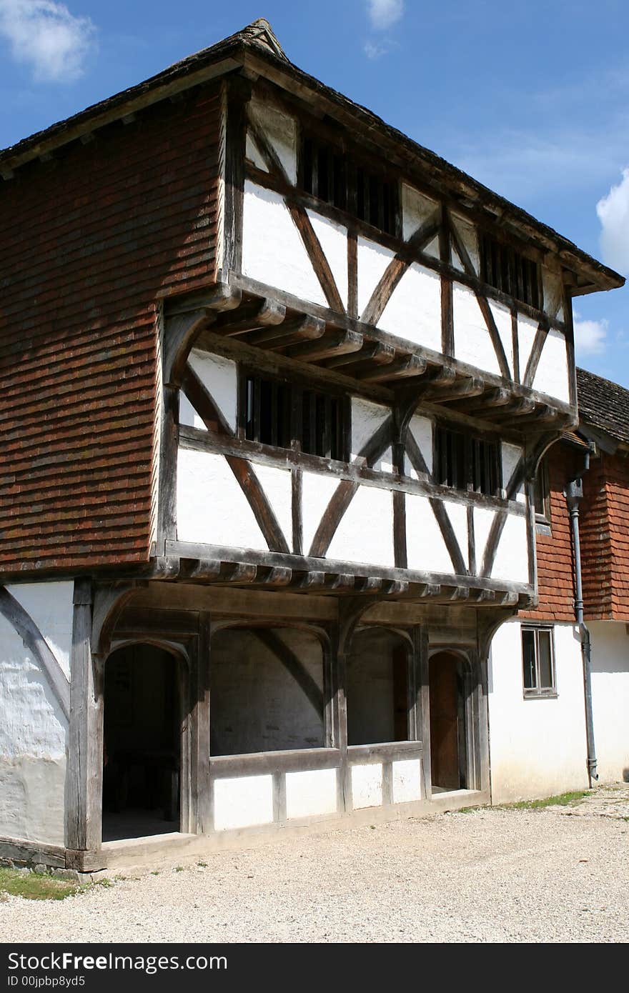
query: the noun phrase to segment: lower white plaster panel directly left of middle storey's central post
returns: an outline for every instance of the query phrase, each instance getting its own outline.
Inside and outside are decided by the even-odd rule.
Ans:
[[[359,487],[341,518],[326,557],[393,568],[393,495],[390,490]]]

